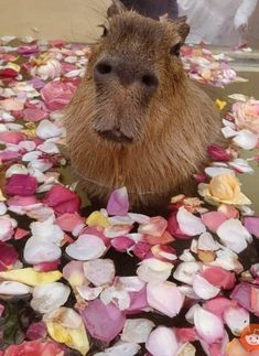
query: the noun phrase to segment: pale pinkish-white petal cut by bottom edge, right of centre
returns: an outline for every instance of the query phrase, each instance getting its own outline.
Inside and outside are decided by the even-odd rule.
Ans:
[[[158,326],[150,333],[145,348],[152,356],[176,355],[179,343],[172,328]]]

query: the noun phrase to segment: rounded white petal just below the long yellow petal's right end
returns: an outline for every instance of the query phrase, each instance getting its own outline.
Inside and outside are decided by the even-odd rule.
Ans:
[[[71,294],[71,289],[58,282],[43,283],[34,288],[31,306],[42,313],[50,313],[64,305]]]

